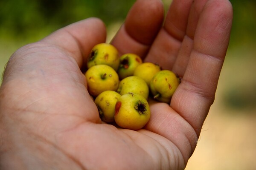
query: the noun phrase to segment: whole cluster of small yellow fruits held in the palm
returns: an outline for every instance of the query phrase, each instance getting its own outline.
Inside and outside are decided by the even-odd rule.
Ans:
[[[85,73],[89,94],[102,121],[116,122],[122,128],[138,130],[150,118],[148,97],[170,103],[180,79],[169,70],[132,53],[118,56],[108,43],[95,45]]]

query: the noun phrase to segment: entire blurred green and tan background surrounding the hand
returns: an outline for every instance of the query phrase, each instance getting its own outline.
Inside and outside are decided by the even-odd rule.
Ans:
[[[166,11],[171,1],[163,0]],[[101,18],[111,40],[134,2],[0,0],[0,74],[17,48],[87,17]],[[215,103],[186,170],[256,169],[256,1],[230,2],[234,10],[230,46]]]

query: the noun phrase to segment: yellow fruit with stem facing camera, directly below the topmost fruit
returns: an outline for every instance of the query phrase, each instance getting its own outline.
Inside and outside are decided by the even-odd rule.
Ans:
[[[90,95],[96,97],[103,91],[116,91],[119,77],[108,65],[94,65],[85,72],[87,88]]]

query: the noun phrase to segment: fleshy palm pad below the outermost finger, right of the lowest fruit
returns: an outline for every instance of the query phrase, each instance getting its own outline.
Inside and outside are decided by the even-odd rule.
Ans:
[[[169,104],[154,100],[149,100],[149,104],[151,116],[144,128],[175,144],[175,153],[181,154],[186,164],[198,141],[195,130]]]

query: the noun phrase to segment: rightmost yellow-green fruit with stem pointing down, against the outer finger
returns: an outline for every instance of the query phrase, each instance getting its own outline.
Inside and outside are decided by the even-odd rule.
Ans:
[[[170,103],[172,95],[180,84],[176,74],[169,70],[159,71],[151,80],[150,91],[159,102]]]

